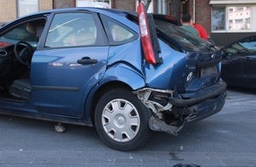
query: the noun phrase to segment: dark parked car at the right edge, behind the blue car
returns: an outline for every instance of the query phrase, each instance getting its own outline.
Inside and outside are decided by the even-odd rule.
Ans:
[[[251,87],[255,84],[256,38],[249,37],[223,49],[222,78],[234,86]]]

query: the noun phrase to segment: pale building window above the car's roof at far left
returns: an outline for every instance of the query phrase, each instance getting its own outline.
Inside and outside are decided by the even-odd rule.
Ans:
[[[39,0],[18,0],[18,17],[39,11]]]

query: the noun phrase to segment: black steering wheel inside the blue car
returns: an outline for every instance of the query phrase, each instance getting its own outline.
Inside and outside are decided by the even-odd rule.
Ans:
[[[19,46],[22,47],[20,51],[18,50]],[[15,44],[13,51],[15,57],[21,64],[30,66],[32,55],[34,54],[34,48],[29,43],[26,41],[19,41]]]

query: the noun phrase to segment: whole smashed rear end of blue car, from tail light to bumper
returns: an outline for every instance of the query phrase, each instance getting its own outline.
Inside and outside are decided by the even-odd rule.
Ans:
[[[169,20],[152,15],[145,17],[143,9],[138,11],[142,47],[149,29],[146,25],[150,27],[148,38],[157,34],[157,41],[150,39],[161,46],[154,57],[148,53],[149,49],[144,49],[145,60],[151,64],[145,69],[147,87],[133,92],[153,112],[149,127],[177,135],[185,124],[220,112],[227,87],[220,78],[221,52],[200,38],[182,32]],[[148,61],[148,57],[161,61]]]

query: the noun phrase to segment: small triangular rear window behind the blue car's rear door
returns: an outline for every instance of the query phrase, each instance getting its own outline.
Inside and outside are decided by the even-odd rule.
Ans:
[[[123,25],[116,20],[101,15],[104,28],[106,30],[107,36],[109,38],[110,45],[120,45],[139,37],[137,33],[132,31],[126,25]]]

